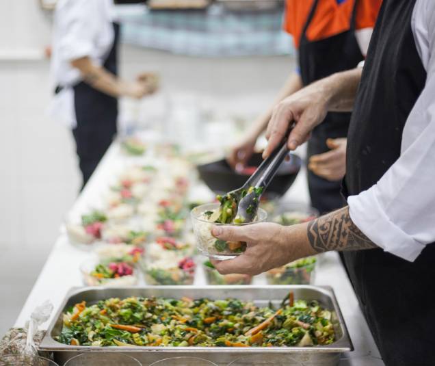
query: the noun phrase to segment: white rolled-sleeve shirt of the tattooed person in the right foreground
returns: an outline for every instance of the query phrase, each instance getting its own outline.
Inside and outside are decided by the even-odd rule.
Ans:
[[[416,1],[411,26],[427,79],[406,120],[401,155],[378,183],[347,199],[356,226],[380,248],[408,261],[435,241],[434,0]]]

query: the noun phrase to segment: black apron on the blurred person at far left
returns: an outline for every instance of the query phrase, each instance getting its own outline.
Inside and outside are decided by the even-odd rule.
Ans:
[[[103,67],[117,75],[118,24],[114,24],[114,33],[114,44]],[[72,134],[77,146],[84,186],[116,135],[118,99],[92,88],[83,81],[73,88],[77,127],[72,130]]]

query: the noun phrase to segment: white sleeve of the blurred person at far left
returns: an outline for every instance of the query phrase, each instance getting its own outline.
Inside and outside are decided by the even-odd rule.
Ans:
[[[64,61],[90,56],[94,49],[95,1],[67,0],[57,10],[58,21],[62,23],[59,40],[59,56]]]

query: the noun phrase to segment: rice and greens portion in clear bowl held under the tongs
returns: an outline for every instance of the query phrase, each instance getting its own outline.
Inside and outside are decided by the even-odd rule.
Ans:
[[[228,200],[223,206],[220,203],[207,203],[195,207],[191,211],[191,218],[200,252],[207,257],[226,259],[243,253],[246,250],[246,243],[244,241],[225,241],[213,237],[211,234],[213,226],[252,225],[265,221],[267,213],[259,208],[253,222],[237,222],[234,204]]]

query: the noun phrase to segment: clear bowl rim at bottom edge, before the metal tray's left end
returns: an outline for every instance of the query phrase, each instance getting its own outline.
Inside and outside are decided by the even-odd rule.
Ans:
[[[142,363],[136,358],[118,352],[87,352],[70,358],[64,366],[87,365],[142,366]]]

